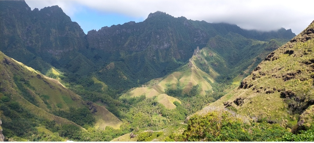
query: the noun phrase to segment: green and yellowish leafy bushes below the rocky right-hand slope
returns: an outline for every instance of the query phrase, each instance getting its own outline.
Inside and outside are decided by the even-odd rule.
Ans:
[[[254,122],[227,110],[215,110],[192,116],[182,135],[171,134],[165,141],[313,141],[313,133],[307,130],[295,135],[279,124]]]

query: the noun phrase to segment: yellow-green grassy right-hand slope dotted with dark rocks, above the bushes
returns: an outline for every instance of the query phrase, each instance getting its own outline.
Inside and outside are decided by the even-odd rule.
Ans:
[[[285,45],[269,54],[240,87],[212,103],[252,118],[287,127],[313,124],[314,22]]]

